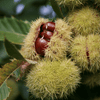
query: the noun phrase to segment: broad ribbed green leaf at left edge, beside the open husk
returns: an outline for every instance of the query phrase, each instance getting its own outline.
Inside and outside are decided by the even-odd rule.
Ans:
[[[22,44],[29,28],[29,22],[19,21],[15,18],[0,19],[0,40],[3,41],[6,36],[10,42]]]

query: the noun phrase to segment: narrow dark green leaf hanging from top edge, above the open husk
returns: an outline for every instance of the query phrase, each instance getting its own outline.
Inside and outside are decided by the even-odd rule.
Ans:
[[[53,10],[58,15],[58,17],[63,19],[64,18],[63,17],[63,14],[62,14],[62,12],[61,12],[61,10],[60,10],[57,2],[55,0],[50,0],[50,2],[51,2],[51,5],[52,5]]]

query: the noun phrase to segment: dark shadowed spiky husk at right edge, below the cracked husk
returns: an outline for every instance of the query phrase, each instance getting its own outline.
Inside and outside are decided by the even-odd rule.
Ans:
[[[82,83],[89,86],[90,88],[100,86],[100,72],[84,76]]]

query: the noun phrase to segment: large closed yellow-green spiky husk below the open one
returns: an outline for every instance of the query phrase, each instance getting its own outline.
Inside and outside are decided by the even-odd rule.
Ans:
[[[39,62],[27,76],[27,87],[36,98],[62,98],[80,83],[80,70],[70,60]]]

